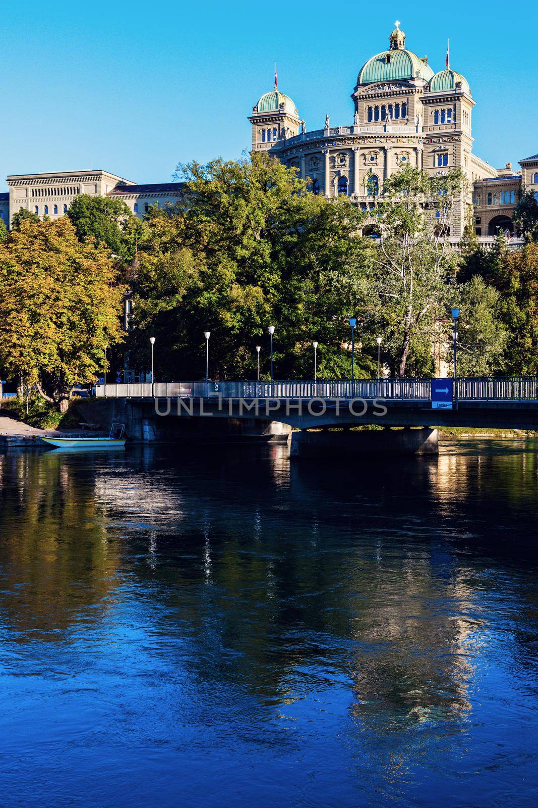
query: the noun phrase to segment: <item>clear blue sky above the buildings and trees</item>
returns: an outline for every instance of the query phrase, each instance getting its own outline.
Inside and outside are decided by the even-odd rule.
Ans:
[[[538,152],[536,0],[26,0],[2,6],[0,20],[0,187],[8,174],[89,168],[90,159],[148,183],[169,180],[177,162],[236,158],[274,61],[308,129],[326,112],[349,124],[357,72],[387,47],[395,19],[434,69],[450,37],[451,66],[477,102],[476,154],[503,166]]]

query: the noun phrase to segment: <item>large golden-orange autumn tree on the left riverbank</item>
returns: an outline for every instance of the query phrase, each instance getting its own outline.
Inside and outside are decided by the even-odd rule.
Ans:
[[[94,381],[105,345],[123,338],[123,289],[105,246],[79,242],[69,219],[22,221],[0,244],[0,361],[67,409]]]

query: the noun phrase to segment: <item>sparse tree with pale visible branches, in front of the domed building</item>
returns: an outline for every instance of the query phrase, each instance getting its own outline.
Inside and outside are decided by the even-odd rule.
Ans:
[[[432,371],[432,344],[446,312],[456,272],[448,243],[463,175],[430,177],[405,166],[386,179],[373,222],[381,235],[372,254],[369,330],[382,335],[386,355],[402,377]]]

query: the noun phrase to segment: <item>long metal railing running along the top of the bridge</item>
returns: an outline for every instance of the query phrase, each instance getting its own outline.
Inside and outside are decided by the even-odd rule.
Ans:
[[[450,380],[448,380],[450,381]],[[373,401],[432,400],[432,379],[357,381],[169,381],[97,385],[97,398],[364,398]],[[538,402],[538,378],[459,378],[459,402]]]

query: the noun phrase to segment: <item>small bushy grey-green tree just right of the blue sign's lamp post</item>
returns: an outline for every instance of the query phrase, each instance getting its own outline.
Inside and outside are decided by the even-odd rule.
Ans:
[[[501,296],[478,275],[457,288],[458,370],[461,376],[490,376],[504,367],[508,331]],[[451,343],[452,331],[447,340]]]

